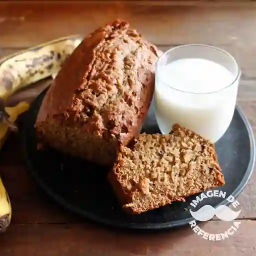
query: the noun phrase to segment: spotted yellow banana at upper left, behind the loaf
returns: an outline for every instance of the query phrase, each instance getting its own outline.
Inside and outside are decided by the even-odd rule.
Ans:
[[[56,73],[80,42],[79,37],[62,37],[1,59],[0,98]]]

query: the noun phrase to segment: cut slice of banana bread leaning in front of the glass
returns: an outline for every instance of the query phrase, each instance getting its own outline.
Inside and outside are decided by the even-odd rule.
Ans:
[[[140,134],[122,146],[108,173],[123,208],[141,213],[223,185],[214,145],[173,125],[169,134]]]

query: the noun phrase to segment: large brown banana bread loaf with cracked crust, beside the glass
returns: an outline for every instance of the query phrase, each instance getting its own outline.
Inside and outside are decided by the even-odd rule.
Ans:
[[[41,142],[111,165],[137,135],[154,91],[157,49],[126,21],[85,37],[63,63],[39,109]]]

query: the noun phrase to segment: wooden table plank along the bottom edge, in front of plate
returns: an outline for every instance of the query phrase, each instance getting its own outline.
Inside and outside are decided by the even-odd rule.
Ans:
[[[210,221],[200,228],[220,233],[230,226]],[[1,256],[131,256],[131,255],[254,255],[256,222],[242,220],[238,230],[222,241],[208,241],[189,227],[159,233],[124,233],[90,224],[12,224],[0,239]],[[54,237],[54,239],[52,239]],[[38,245],[44,249],[38,249]],[[47,254],[46,254],[47,253]],[[73,254],[75,253],[75,254]]]

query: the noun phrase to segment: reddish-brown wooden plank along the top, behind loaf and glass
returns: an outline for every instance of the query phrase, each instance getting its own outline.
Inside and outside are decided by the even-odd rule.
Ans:
[[[87,34],[119,17],[129,20],[156,44],[203,42],[242,46],[245,43],[249,47],[255,45],[255,34],[251,32],[255,10],[255,4],[243,2],[208,6],[63,1],[15,3],[15,8],[9,2],[0,2],[0,46],[28,47],[70,33]]]

